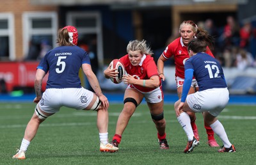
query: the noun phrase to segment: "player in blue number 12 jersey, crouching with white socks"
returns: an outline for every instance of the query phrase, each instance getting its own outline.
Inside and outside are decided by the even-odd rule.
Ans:
[[[188,44],[190,58],[184,65],[185,80],[182,97],[174,105],[177,119],[188,136],[188,144],[184,152],[192,152],[193,148],[200,143],[193,134],[191,121],[186,112],[203,113],[204,121],[210,125],[223,142],[223,146],[218,152],[236,152],[234,145],[228,140],[223,125],[216,118],[227,106],[229,93],[219,61],[205,53],[206,40],[213,40],[208,36],[206,31],[200,32],[197,38]],[[199,91],[188,95],[193,76],[198,83]]]

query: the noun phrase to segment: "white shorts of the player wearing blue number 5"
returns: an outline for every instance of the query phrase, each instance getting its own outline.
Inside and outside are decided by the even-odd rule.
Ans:
[[[49,88],[38,106],[45,113],[57,113],[60,107],[84,109],[92,102],[93,92],[82,88]]]

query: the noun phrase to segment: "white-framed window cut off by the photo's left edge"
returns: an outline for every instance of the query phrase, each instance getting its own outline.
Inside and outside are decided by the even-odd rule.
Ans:
[[[15,59],[14,17],[12,13],[0,13],[0,61]]]

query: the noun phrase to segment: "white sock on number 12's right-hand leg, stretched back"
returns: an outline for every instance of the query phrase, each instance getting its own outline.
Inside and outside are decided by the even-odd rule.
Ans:
[[[232,145],[230,143],[230,141],[228,140],[227,133],[226,133],[223,125],[221,124],[221,122],[219,120],[216,120],[216,122],[212,123],[210,125],[210,127],[212,128],[214,133],[217,134],[220,137],[220,139],[223,142],[223,145],[225,146],[225,148],[229,148]]]

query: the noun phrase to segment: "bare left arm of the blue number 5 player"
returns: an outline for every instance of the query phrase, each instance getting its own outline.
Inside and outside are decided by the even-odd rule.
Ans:
[[[44,79],[45,76],[45,72],[44,70],[38,68],[36,70],[36,76],[35,76],[35,93],[36,93],[36,97],[34,99],[35,103],[38,103],[40,101],[40,99],[42,98],[42,81]]]

